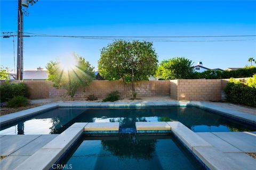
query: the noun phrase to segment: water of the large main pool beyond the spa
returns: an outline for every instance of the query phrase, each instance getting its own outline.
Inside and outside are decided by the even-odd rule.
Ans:
[[[194,132],[256,131],[197,107],[56,108],[1,127],[0,134],[59,134],[76,122],[119,122],[120,128],[135,128],[135,122],[167,121],[179,121]]]

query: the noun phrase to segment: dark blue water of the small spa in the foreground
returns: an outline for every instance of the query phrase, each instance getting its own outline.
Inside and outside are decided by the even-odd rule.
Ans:
[[[204,169],[172,135],[84,137],[61,164],[74,170]]]

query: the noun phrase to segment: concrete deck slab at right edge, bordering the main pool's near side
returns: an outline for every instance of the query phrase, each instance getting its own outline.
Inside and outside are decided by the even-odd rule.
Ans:
[[[256,135],[250,132],[213,132],[243,152],[256,152]]]

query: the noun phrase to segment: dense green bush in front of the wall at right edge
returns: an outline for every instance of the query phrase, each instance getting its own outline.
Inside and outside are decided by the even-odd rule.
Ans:
[[[231,78],[224,91],[227,101],[256,107],[256,74],[247,82]]]

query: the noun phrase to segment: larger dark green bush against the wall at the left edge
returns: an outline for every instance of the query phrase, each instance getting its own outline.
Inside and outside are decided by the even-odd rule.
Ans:
[[[29,97],[28,87],[25,83],[6,82],[0,86],[1,102],[8,101],[14,96]]]

